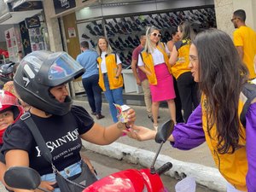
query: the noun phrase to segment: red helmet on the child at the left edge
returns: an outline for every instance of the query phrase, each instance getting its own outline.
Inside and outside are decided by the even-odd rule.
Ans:
[[[0,90],[0,113],[11,110],[14,113],[15,121],[20,119],[24,112],[18,102],[18,98],[6,90]]]

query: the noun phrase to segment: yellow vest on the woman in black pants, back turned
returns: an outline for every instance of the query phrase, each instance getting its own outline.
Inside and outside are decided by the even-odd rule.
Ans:
[[[172,75],[175,79],[186,72],[190,72],[189,69],[189,49],[191,42],[190,40],[183,39],[182,45],[177,49],[177,61],[172,66]]]

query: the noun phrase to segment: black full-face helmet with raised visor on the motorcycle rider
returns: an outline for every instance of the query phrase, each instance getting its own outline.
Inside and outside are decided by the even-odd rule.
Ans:
[[[58,102],[49,90],[84,73],[84,68],[66,52],[38,50],[26,55],[15,73],[15,90],[32,107],[46,113],[64,115],[72,105],[70,96]]]

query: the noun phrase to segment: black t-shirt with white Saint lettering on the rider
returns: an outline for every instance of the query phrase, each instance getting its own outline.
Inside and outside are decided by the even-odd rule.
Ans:
[[[32,114],[32,119],[38,125],[38,130],[53,156],[53,163],[59,171],[81,159],[79,151],[82,143],[79,135],[89,131],[94,125],[93,119],[84,108],[73,106],[66,115],[52,115],[49,118]],[[22,120],[9,126],[4,133],[2,153],[5,154],[10,149],[25,150],[29,154],[30,167],[40,175],[52,172],[49,162],[41,155],[31,131]]]

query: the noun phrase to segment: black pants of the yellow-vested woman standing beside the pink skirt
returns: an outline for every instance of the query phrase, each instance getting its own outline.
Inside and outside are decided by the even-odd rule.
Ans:
[[[192,73],[186,72],[177,78],[177,89],[182,102],[183,118],[187,122],[193,109],[199,105],[198,84]]]

